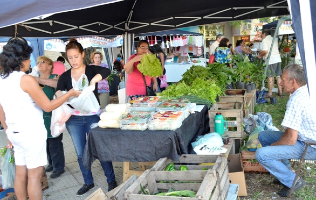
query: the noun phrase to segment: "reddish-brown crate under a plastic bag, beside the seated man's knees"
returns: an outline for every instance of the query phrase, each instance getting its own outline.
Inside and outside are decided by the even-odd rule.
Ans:
[[[245,172],[268,172],[258,161],[248,161],[256,159],[255,151],[241,151],[241,161]]]

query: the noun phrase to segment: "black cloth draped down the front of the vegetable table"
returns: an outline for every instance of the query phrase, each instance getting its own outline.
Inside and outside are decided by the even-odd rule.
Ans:
[[[95,159],[100,161],[149,162],[167,157],[177,161],[192,150],[191,141],[208,133],[207,106],[191,114],[175,131],[137,131],[95,128],[90,130],[82,161],[90,169]]]

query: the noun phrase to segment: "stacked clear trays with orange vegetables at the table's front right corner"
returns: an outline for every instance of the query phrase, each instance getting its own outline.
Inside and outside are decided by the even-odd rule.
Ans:
[[[148,120],[149,130],[175,130],[182,125],[181,111],[158,111]]]

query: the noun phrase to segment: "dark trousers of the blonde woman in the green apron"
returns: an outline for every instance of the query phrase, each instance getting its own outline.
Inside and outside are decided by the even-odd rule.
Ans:
[[[60,172],[65,169],[65,156],[63,146],[63,134],[57,138],[47,138],[47,160],[48,165],[53,167],[54,171]]]

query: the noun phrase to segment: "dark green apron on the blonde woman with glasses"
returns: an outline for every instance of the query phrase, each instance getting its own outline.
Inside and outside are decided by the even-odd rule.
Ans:
[[[51,74],[49,78],[54,79],[56,74]],[[52,88],[50,86],[44,85],[42,88],[43,92],[46,94],[49,100],[53,100],[54,94],[56,92],[55,88]],[[43,111],[43,118],[44,118],[44,125],[47,130],[47,138],[52,138],[53,136],[51,135],[51,120],[52,120],[52,112],[45,112]]]

